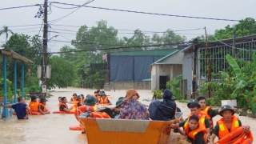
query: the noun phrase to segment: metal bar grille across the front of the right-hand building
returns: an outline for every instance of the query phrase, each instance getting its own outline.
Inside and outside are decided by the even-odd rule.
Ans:
[[[229,64],[226,60],[226,54],[232,55],[232,46],[223,43],[222,46],[210,46],[209,60],[211,63],[210,69],[214,76],[211,78],[212,82],[220,82],[218,73],[219,71],[226,71],[229,69]],[[256,41],[252,40],[250,42],[238,42],[235,45],[235,58],[251,61],[252,55],[256,51]],[[206,58],[206,47],[200,47],[198,49],[198,84],[202,84],[202,81],[207,81],[207,58]]]

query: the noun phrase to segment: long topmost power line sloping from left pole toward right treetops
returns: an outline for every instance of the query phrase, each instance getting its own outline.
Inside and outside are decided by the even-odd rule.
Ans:
[[[62,5],[70,5],[70,6],[79,6],[70,3],[62,3],[62,2],[52,2]],[[186,16],[186,15],[176,15],[176,14],[158,14],[158,13],[150,13],[150,12],[143,12],[143,11],[135,11],[135,10],[120,10],[120,9],[111,9],[105,7],[96,7],[96,6],[83,6],[93,9],[101,9],[101,10],[114,10],[114,11],[122,11],[122,12],[129,12],[129,13],[137,13],[137,14],[151,14],[151,15],[162,15],[162,16],[169,16],[169,17],[180,17],[180,18],[197,18],[197,19],[209,19],[209,20],[217,20],[217,21],[231,21],[231,22],[241,22],[240,20],[235,19],[225,19],[225,18],[206,18],[206,17],[195,17],[195,16]]]

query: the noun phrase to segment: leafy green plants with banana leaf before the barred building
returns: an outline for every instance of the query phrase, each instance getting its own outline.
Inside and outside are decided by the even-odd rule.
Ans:
[[[255,55],[253,57],[255,58]],[[230,71],[219,72],[222,82],[203,82],[199,93],[205,94],[207,87],[211,86],[214,91],[214,98],[207,100],[210,106],[221,100],[237,99],[239,107],[246,107],[252,110],[254,108],[253,103],[248,105],[248,102],[251,102],[256,95],[256,91],[254,92],[254,86],[256,85],[255,61],[235,61],[230,55],[227,55],[226,59],[230,64]],[[241,68],[238,67],[238,63],[242,64]]]

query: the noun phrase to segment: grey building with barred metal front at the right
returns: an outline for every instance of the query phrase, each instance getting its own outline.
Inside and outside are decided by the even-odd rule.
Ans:
[[[210,82],[220,82],[218,78],[219,71],[225,71],[229,69],[229,64],[226,61],[226,54],[233,55],[236,59],[251,60],[253,51],[256,50],[256,35],[250,35],[246,37],[235,38],[235,46],[233,46],[233,38],[223,39],[221,41],[208,42],[209,62],[210,62]],[[184,52],[184,58],[182,60],[182,76],[183,81],[186,82],[186,95],[187,99],[192,95],[192,78],[193,78],[193,66],[194,66],[194,46],[186,47],[182,50]],[[234,53],[233,53],[234,52]],[[202,42],[198,45],[196,50],[196,76],[195,85],[198,88],[202,87],[202,82],[208,82],[207,72],[207,49],[206,43]],[[198,92],[195,98],[198,97]],[[208,94],[204,96],[209,97]],[[210,96],[213,96],[211,92]]]

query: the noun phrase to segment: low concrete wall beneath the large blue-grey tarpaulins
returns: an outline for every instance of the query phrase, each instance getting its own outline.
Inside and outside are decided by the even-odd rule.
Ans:
[[[111,82],[111,90],[150,90],[151,82]]]

